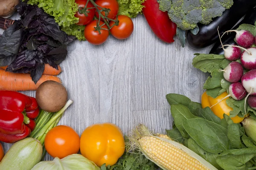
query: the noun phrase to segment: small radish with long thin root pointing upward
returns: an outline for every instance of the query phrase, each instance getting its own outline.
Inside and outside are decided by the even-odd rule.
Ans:
[[[220,36],[219,31],[218,31],[218,35],[219,35],[219,38],[220,38],[220,41],[221,41],[221,36]],[[232,44],[232,45],[234,45],[234,44]],[[227,48],[224,48],[224,46],[227,46],[227,45],[223,45],[222,42],[221,42],[221,46],[222,46],[222,49],[224,51],[224,57],[227,60],[236,61],[237,59],[239,59],[241,57],[242,51],[239,47],[228,45]]]

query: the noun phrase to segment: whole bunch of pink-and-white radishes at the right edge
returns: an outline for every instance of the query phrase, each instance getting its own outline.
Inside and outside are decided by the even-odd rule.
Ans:
[[[229,87],[229,95],[225,98],[232,97],[235,100],[245,98],[244,109],[248,98],[248,105],[256,109],[256,48],[251,47],[256,43],[256,37],[245,30],[230,30],[225,33],[232,31],[236,32],[238,45],[223,45],[221,42],[224,57],[232,61],[224,70],[219,70],[223,71],[224,79],[232,83]],[[221,40],[220,36],[219,38]],[[241,64],[236,61],[238,59],[241,60]],[[244,70],[249,71],[244,74]]]

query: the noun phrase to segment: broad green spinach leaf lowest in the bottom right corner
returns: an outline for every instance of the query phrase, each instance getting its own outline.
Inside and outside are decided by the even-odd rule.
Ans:
[[[243,148],[226,150],[216,161],[224,170],[247,170],[246,163],[256,156],[256,149]]]

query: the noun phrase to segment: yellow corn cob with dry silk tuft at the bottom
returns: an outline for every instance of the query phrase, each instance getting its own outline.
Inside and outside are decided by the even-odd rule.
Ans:
[[[139,149],[163,170],[218,170],[189,148],[170,140],[169,136],[153,136],[144,125],[139,125],[129,139],[130,150]]]

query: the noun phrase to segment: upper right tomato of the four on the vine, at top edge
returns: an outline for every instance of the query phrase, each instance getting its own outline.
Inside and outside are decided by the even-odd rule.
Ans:
[[[102,8],[108,8],[110,9],[109,13],[108,13],[108,18],[113,19],[116,17],[117,13],[118,13],[118,9],[119,9],[119,5],[117,0],[96,0],[95,3],[102,7]],[[102,8],[99,8],[99,10],[101,10]],[[102,11],[101,12],[102,15],[105,16],[105,12]],[[99,18],[99,13],[96,11],[96,17]],[[102,20],[102,18],[101,18]]]

